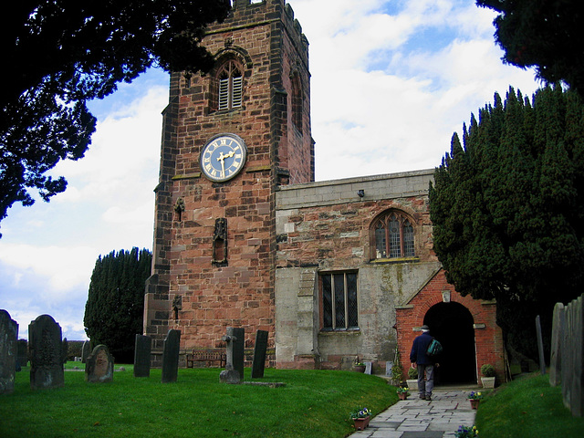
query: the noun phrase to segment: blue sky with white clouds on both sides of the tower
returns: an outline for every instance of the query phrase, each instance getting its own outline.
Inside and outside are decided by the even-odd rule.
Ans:
[[[531,70],[504,66],[495,15],[469,0],[288,0],[310,44],[317,180],[433,168],[495,91],[530,95]],[[15,205],[0,223],[0,308],[27,337],[50,314],[85,339],[99,255],[151,249],[161,112],[168,75],[150,70],[89,105],[98,130],[86,157],[52,172],[68,190]]]

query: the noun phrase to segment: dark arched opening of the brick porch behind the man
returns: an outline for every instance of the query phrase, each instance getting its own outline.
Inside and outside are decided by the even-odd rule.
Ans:
[[[443,345],[437,384],[476,383],[474,320],[460,303],[438,303],[426,312],[423,323]]]

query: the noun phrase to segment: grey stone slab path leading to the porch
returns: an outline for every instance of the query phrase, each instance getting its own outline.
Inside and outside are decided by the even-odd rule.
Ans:
[[[364,431],[349,438],[454,438],[458,426],[472,426],[475,410],[469,391],[434,390],[432,401],[412,394],[373,417]]]

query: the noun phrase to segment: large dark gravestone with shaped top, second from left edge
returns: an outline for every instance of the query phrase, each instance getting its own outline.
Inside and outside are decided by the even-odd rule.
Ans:
[[[65,383],[61,327],[50,315],[41,315],[28,325],[30,387],[58,388]]]

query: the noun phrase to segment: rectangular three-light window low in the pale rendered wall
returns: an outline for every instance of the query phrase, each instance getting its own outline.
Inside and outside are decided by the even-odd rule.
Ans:
[[[320,275],[323,330],[359,328],[357,272]]]

